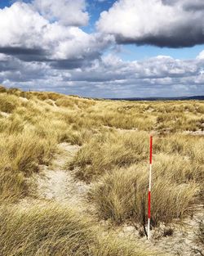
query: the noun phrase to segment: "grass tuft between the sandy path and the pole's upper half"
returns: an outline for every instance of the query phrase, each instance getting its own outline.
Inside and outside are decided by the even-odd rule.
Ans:
[[[116,166],[129,166],[146,159],[148,141],[145,132],[103,132],[79,150],[71,165],[80,166],[78,177],[90,181]]]

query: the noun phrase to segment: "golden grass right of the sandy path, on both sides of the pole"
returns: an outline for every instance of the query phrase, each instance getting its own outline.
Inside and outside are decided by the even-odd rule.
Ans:
[[[153,147],[152,224],[188,215],[199,200],[204,180],[203,138],[155,136]],[[96,181],[91,191],[101,218],[121,223],[147,220],[149,135],[146,132],[104,132],[86,143],[71,163],[77,177]],[[201,199],[200,199],[201,200]]]

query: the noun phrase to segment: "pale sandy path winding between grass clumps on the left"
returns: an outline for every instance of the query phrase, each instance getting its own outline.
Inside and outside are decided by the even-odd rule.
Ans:
[[[74,170],[65,167],[78,152],[79,146],[61,143],[60,152],[55,154],[51,166],[42,166],[41,175],[37,177],[37,194],[39,199],[55,200],[87,210],[86,193],[90,186],[74,178]]]

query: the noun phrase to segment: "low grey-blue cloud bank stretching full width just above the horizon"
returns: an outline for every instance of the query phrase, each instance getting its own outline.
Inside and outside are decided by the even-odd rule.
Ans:
[[[0,56],[0,83],[23,89],[48,90],[86,97],[187,96],[204,94],[204,60],[181,61],[155,56],[122,61],[109,54],[80,67]],[[70,63],[69,63],[70,64]],[[73,63],[74,65],[74,63]]]

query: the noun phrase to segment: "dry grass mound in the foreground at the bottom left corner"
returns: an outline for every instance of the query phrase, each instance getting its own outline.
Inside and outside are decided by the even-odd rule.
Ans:
[[[58,204],[0,209],[0,249],[15,256],[144,256],[135,243],[95,227]]]

